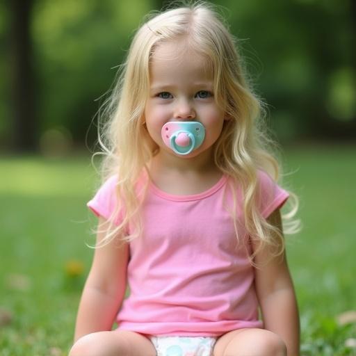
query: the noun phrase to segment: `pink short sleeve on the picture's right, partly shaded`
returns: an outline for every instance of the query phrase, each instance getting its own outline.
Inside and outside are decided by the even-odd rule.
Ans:
[[[262,170],[259,170],[259,188],[259,207],[264,218],[268,218],[275,209],[280,209],[289,198],[289,193]]]

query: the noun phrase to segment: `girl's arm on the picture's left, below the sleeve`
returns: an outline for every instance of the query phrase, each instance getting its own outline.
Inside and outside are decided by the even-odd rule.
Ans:
[[[99,218],[97,243],[104,238],[108,221]],[[83,289],[74,341],[86,334],[111,330],[126,290],[129,248],[118,238],[96,248],[86,285]]]

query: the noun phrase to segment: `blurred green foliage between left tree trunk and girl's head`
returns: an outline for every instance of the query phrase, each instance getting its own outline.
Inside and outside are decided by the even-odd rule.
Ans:
[[[33,24],[44,129],[64,126],[74,138],[88,129],[129,46],[133,26],[149,10],[142,1],[42,1]],[[135,24],[135,25],[133,25]],[[51,79],[51,80],[49,80]]]

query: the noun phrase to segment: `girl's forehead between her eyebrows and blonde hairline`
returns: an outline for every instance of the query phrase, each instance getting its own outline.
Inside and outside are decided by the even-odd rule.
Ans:
[[[212,81],[211,61],[191,48],[186,40],[159,43],[149,63],[150,81],[190,78],[192,81]]]

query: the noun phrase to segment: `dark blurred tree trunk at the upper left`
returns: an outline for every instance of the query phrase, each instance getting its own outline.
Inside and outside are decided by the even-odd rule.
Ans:
[[[37,149],[37,118],[31,46],[31,10],[33,0],[12,0],[10,5],[10,117],[13,149],[33,152]]]

